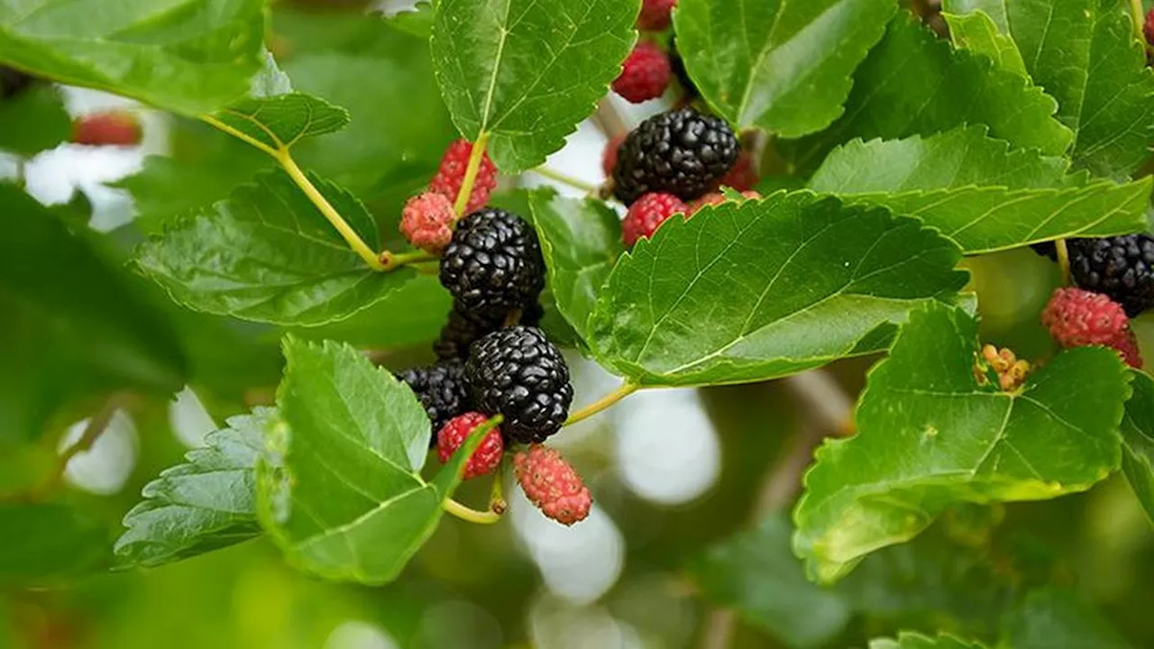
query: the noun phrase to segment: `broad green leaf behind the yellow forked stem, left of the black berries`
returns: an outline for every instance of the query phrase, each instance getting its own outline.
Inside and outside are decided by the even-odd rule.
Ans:
[[[310,177],[369,245],[376,222],[349,192]],[[384,299],[413,273],[377,273],[277,171],[140,246],[136,264],[189,308],[277,324],[316,326]]]

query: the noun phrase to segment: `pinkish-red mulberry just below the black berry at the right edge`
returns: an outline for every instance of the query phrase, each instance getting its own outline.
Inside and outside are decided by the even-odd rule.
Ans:
[[[1042,311],[1042,324],[1064,348],[1111,345],[1129,327],[1122,306],[1081,289],[1058,289]]]

